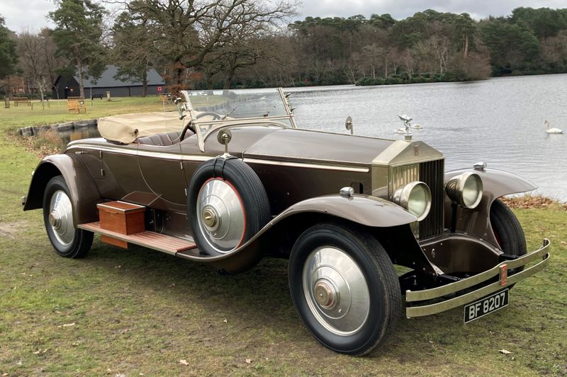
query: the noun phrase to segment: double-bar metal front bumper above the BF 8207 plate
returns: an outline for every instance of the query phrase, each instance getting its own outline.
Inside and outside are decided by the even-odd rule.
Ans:
[[[412,318],[448,311],[449,309],[456,308],[457,306],[476,301],[478,298],[482,298],[495,291],[499,291],[506,286],[520,282],[520,280],[525,279],[546,267],[549,262],[548,247],[549,240],[544,238],[544,243],[538,250],[523,255],[515,260],[507,260],[506,262],[499,263],[495,267],[481,272],[480,274],[476,274],[473,277],[468,277],[466,279],[459,280],[459,282],[454,282],[444,286],[438,286],[437,288],[425,289],[422,291],[405,291],[405,315],[408,318]],[[503,279],[503,277],[500,276],[500,271],[502,271],[501,267],[503,265],[507,265],[510,269],[515,269],[538,259],[541,260],[535,265],[524,268],[522,272],[517,272],[510,277],[507,277],[507,279],[506,277]],[[494,282],[493,280],[497,276],[498,282]],[[486,282],[487,285],[474,291],[465,291],[463,294],[459,294],[459,292],[462,292],[465,289],[483,284],[484,282]],[[445,296],[454,296],[454,294],[457,296],[445,298]],[[430,303],[431,301],[436,302]]]

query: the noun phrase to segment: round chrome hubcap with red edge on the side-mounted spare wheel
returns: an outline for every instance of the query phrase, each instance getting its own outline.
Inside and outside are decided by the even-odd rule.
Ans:
[[[208,180],[197,196],[198,224],[208,244],[218,253],[240,245],[245,233],[245,212],[239,195],[225,180]]]

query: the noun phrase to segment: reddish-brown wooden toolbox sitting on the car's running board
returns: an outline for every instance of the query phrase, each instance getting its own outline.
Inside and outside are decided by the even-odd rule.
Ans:
[[[144,206],[116,201],[96,204],[96,207],[99,208],[99,219],[103,229],[126,235],[145,231]],[[102,236],[101,240],[122,248],[128,247],[128,243],[116,238]]]

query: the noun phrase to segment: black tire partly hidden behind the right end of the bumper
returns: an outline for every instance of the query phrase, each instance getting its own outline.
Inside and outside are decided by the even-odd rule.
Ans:
[[[500,249],[506,254],[521,257],[527,253],[526,237],[515,214],[501,200],[496,199],[490,206],[490,226],[494,236],[500,245]],[[524,267],[510,269],[509,274],[520,272]]]

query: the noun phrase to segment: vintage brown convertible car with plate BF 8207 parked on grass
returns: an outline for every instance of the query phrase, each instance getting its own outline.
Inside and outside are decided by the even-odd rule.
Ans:
[[[534,185],[485,163],[444,172],[409,117],[403,140],[378,139],[298,129],[281,89],[183,95],[179,113],[103,118],[101,138],[40,162],[23,208],[43,209],[57,253],[82,257],[100,233],[227,273],[284,255],[305,326],[354,355],[402,311],[503,308],[549,261],[498,199]]]

